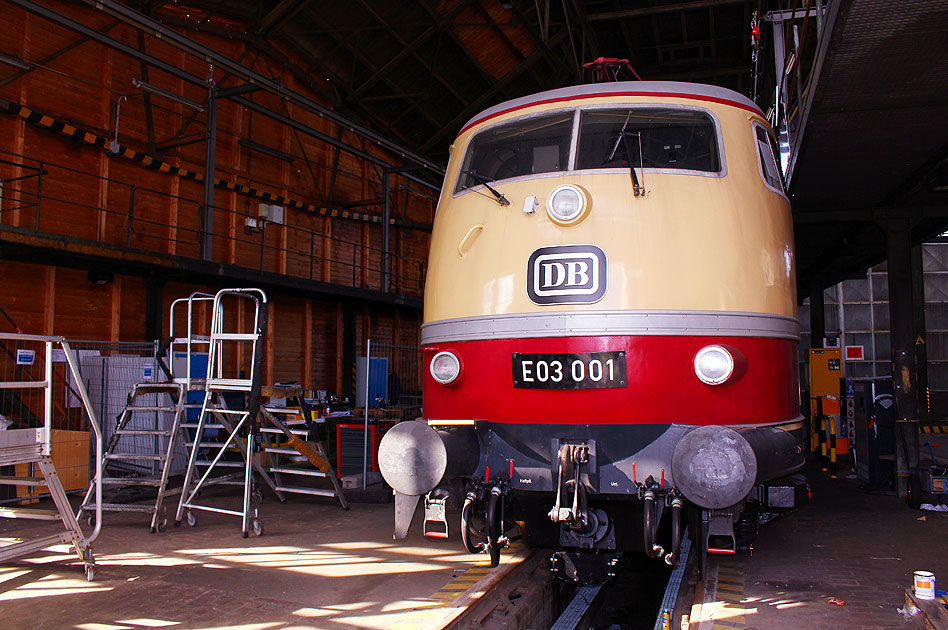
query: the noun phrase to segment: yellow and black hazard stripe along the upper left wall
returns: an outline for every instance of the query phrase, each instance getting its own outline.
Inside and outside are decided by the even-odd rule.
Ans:
[[[73,140],[98,147],[102,150],[107,150],[110,146],[109,139],[104,136],[99,136],[88,131],[83,131],[82,129],[79,129],[66,121],[58,120],[47,114],[37,112],[33,109],[30,109],[29,107],[18,105],[2,98],[0,98],[0,112],[17,116],[32,125],[58,132],[64,136],[72,138]],[[135,151],[133,149],[119,145],[117,152],[110,151],[110,153],[124,157],[128,160],[131,160],[132,162],[138,162],[142,166],[159,171],[161,173],[176,175],[185,179],[193,179],[199,182],[204,181],[204,175],[202,173],[175,166],[164,160],[156,159],[142,151]],[[298,199],[290,199],[284,195],[278,195],[267,190],[259,190],[253,186],[238,184],[237,182],[232,182],[222,178],[215,178],[214,185],[226,190],[232,190],[237,193],[250,195],[262,201],[312,212],[321,216],[350,219],[352,221],[362,221],[363,223],[382,222],[382,217],[376,216],[374,214],[367,214],[365,212],[352,212],[350,210],[341,210],[339,208],[325,208],[315,204],[306,203],[305,201],[299,201]],[[391,219],[390,224],[421,230],[431,229],[431,226],[428,224],[417,223],[414,221]]]

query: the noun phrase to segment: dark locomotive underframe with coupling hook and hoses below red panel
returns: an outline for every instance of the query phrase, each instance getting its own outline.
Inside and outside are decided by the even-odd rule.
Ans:
[[[697,427],[676,424],[525,427],[477,422],[473,427],[442,429],[439,434],[450,436],[446,443],[468,447],[473,434],[480,459],[475,470],[443,480],[432,494],[455,499],[464,494],[465,503],[482,502],[484,506],[492,497],[499,497],[502,512],[493,516],[500,519],[493,524],[493,531],[488,531],[491,510],[484,507],[488,518],[484,530],[477,532],[483,546],[496,556],[498,546],[505,542],[504,520],[515,521],[529,546],[557,549],[552,567],[562,579],[587,582],[608,578],[621,551],[644,552],[674,564],[686,517],[703,567],[709,550],[739,550],[742,537],[751,529],[756,532],[762,505],[767,515],[795,507],[786,502],[768,507],[769,494],[761,488],[764,482],[789,475],[802,465],[801,451],[788,448],[791,443],[801,443],[802,430],[738,428],[755,445],[751,459],[769,459],[759,470],[754,468],[750,492],[723,491],[725,496],[728,491],[740,492],[740,497],[726,506],[696,505],[677,487],[675,449]],[[702,431],[712,429],[727,431],[723,427],[704,427]],[[765,432],[763,437],[761,431]],[[781,433],[790,439],[768,441]],[[468,438],[459,439],[459,434],[468,434]],[[543,447],[546,439],[548,449]],[[730,483],[729,479],[717,481]],[[790,483],[794,484],[799,482]],[[513,518],[509,518],[511,511]],[[753,527],[748,524],[751,520]],[[462,528],[469,527],[462,519]],[[471,533],[466,529],[465,533],[468,544]]]

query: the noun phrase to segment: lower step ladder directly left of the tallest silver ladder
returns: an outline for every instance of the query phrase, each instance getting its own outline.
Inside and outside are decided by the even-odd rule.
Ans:
[[[168,481],[175,448],[185,442],[185,399],[181,383],[138,383],[129,392],[102,457],[102,485],[112,499],[102,503],[102,511],[144,512],[151,515],[151,533],[165,531],[164,501],[181,492],[168,488]],[[90,523],[97,507],[94,484],[95,480],[79,508],[80,517],[86,513]],[[154,503],[133,502],[130,493],[135,489],[151,488],[156,492]],[[122,501],[123,495],[129,500]]]

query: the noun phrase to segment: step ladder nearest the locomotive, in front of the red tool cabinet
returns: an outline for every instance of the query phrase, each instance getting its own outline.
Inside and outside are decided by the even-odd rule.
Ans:
[[[266,398],[284,398],[292,406],[262,405],[260,407],[260,433],[275,438],[269,439],[264,452],[275,455],[280,463],[271,465],[270,472],[276,481],[276,490],[290,494],[305,494],[318,497],[336,497],[342,509],[348,510],[342,484],[326,453],[326,433],[323,423],[313,418],[312,408],[303,397],[298,386],[272,385],[261,389]],[[296,416],[291,419],[290,416]],[[286,441],[284,441],[286,440]],[[305,483],[312,479],[326,479],[332,488],[317,488]]]

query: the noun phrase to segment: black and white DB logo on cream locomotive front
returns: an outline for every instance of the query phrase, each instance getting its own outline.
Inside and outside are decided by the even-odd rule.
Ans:
[[[592,304],[606,294],[606,254],[595,245],[541,247],[527,262],[534,304]]]

